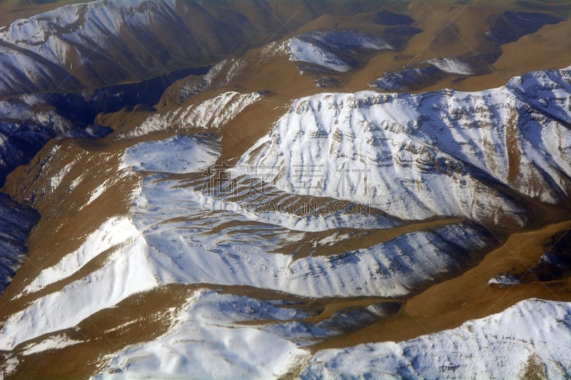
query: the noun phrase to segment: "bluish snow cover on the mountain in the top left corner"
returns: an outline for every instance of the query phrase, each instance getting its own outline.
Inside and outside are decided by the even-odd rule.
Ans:
[[[111,50],[126,57],[132,53],[124,41],[118,41],[126,29],[148,31],[153,22],[181,24],[175,0],[152,1],[146,6],[144,3],[98,0],[69,4],[14,21],[0,31],[0,67],[2,72],[11,74],[0,76],[0,93],[74,85],[78,83],[74,77],[77,65],[94,54],[99,56],[98,62],[103,62],[104,70],[117,59]],[[86,51],[89,53],[84,54]],[[117,66],[116,70],[124,69]]]

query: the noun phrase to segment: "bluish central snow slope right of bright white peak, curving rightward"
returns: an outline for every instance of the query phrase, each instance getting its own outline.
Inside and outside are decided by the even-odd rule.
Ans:
[[[303,232],[248,213],[210,212],[194,191],[178,181],[149,178],[133,209],[153,259],[168,268],[168,281],[241,284],[309,297],[397,296],[458,268],[466,252],[495,243],[485,230],[459,224],[343,255],[295,260],[282,247],[303,239]],[[228,225],[231,220],[236,223]]]

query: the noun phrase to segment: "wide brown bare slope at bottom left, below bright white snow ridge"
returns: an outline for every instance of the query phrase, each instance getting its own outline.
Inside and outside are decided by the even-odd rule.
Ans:
[[[11,376],[14,379],[86,379],[100,369],[102,356],[127,344],[148,342],[166,332],[171,324],[171,311],[181,307],[194,289],[196,287],[172,285],[128,297],[116,307],[84,319],[74,329],[54,333],[83,341],[64,349],[22,354],[26,346],[41,342],[51,334],[21,344],[14,349],[21,365]]]

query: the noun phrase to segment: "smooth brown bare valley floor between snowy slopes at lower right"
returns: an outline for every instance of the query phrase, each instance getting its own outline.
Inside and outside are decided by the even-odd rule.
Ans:
[[[504,245],[488,253],[473,269],[408,299],[394,317],[381,319],[358,332],[316,344],[313,349],[413,339],[458,327],[470,319],[501,312],[522,299],[537,297],[570,302],[569,278],[551,282],[535,279],[506,287],[487,284],[497,274],[526,274],[546,248],[549,250],[545,243],[550,241],[550,237],[570,227],[571,222],[561,222],[536,231],[515,233]]]

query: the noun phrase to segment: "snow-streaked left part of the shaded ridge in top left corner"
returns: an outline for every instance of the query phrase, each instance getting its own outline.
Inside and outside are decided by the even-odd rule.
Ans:
[[[157,61],[147,49],[168,41],[153,26],[176,22],[183,29],[175,5],[175,1],[92,1],[15,21],[0,33],[0,63],[9,73],[1,78],[0,93],[77,90],[135,78],[133,73],[148,75]],[[129,45],[127,40],[134,36],[142,39]],[[168,54],[168,47],[161,50]],[[140,64],[143,61],[151,71]]]

